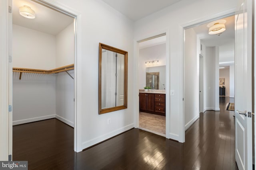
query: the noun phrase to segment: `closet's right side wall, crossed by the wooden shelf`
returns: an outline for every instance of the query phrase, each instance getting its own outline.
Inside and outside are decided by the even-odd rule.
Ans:
[[[74,64],[74,23],[56,35],[56,67]],[[74,70],[68,73],[74,78]],[[56,118],[74,127],[74,80],[66,73],[56,76]]]

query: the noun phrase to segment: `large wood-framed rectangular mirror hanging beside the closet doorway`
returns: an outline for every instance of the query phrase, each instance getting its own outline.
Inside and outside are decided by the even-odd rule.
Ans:
[[[99,114],[127,108],[128,52],[99,45]]]

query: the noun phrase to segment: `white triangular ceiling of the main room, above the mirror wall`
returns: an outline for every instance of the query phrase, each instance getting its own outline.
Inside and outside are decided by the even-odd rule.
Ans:
[[[103,0],[133,21],[162,10],[180,0]]]

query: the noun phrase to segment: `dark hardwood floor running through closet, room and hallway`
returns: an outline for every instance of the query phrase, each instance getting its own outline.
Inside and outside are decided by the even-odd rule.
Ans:
[[[220,98],[221,111],[206,111],[177,143],[132,129],[76,153],[74,129],[48,119],[13,127],[13,160],[30,170],[236,170],[233,111]]]

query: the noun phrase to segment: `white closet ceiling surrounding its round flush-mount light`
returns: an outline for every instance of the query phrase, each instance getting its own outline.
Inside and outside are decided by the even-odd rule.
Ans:
[[[20,6],[29,6],[36,12],[35,19],[24,18],[19,14]],[[74,22],[74,19],[42,6],[31,0],[12,1],[12,23],[27,27],[51,35],[57,35],[60,31]]]

